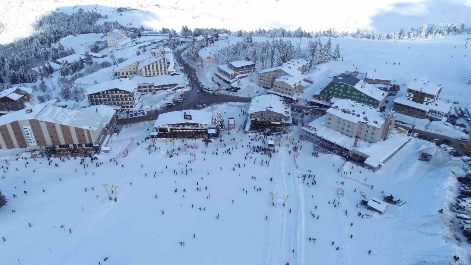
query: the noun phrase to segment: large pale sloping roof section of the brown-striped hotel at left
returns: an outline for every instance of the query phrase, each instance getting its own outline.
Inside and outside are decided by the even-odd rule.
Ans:
[[[34,118],[45,122],[96,131],[102,123],[104,116],[48,105]]]

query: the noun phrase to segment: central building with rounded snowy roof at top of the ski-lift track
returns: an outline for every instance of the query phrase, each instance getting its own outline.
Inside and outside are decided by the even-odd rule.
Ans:
[[[273,94],[252,98],[248,115],[251,123],[291,124],[292,122],[290,103]]]

